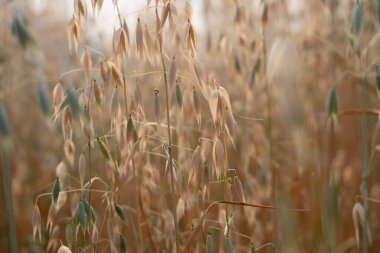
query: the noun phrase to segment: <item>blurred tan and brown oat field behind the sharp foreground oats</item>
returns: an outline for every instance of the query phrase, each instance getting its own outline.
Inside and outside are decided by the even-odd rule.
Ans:
[[[70,52],[67,29],[74,15],[74,1],[0,1],[0,104],[8,115],[11,129],[10,136],[0,135],[1,142],[7,143],[2,145],[3,149],[8,150],[1,157],[1,168],[4,171],[4,161],[9,161],[18,252],[55,252],[60,241],[73,252],[78,250],[79,244],[68,236],[71,232],[67,224],[81,196],[79,193],[67,194],[64,207],[51,218],[54,225],[50,233],[45,229],[49,222],[50,198],[39,198],[43,238],[41,241],[33,238],[36,198],[51,192],[60,162],[69,163],[64,148],[67,136],[74,140],[76,147],[75,163],[67,166],[70,177],[78,178],[77,160],[82,152],[87,152],[86,137],[79,124],[73,127],[73,133],[52,119],[54,109],[50,104],[49,113],[44,113],[41,92],[46,92],[53,103],[53,89],[60,82],[65,88],[81,91],[83,87],[83,93],[88,94],[91,86],[83,73],[68,72],[82,67],[84,45],[90,47],[94,69],[99,69],[101,62],[113,59],[112,38],[115,29],[120,27],[115,2],[130,34],[131,53],[121,64],[123,73],[131,76],[126,81],[128,96],[133,96],[136,74],[162,70],[159,60],[148,57],[141,60],[134,52],[137,18],[155,34],[155,1],[148,1],[150,8],[147,8],[147,1],[104,0],[100,11],[93,11],[91,1],[85,2],[87,19],[81,21],[83,30],[78,51]],[[158,2],[163,6],[166,1]],[[215,136],[208,98],[200,95],[201,127],[198,127],[191,102],[193,86],[198,86],[184,46],[189,18],[197,35],[197,57],[209,87],[215,78],[229,94],[235,121],[232,136],[235,147],[231,144],[227,147],[228,167],[233,171],[232,178],[239,177],[246,202],[309,210],[297,213],[234,207],[232,228],[236,234],[231,234],[231,240],[235,252],[249,251],[251,243],[258,252],[363,252],[367,249],[363,247],[363,238],[368,244],[367,252],[378,252],[379,1],[359,1],[360,7],[351,0],[174,2],[178,21],[175,27],[165,28],[164,50],[167,67],[176,56],[183,94],[183,120],[178,118],[175,95],[171,95],[173,142],[179,146],[174,151],[178,160],[177,175],[183,175],[185,180],[190,178],[191,151],[197,147],[199,138],[214,139]],[[360,8],[360,16],[356,8]],[[149,52],[149,49],[144,50]],[[94,71],[94,75],[101,80],[99,73]],[[154,122],[153,89],[164,90],[162,78],[142,75],[138,82],[143,94],[144,119]],[[104,114],[98,116],[97,110],[93,112],[97,134],[105,134],[107,131],[100,129],[103,125],[108,128],[112,121],[109,113],[112,89],[103,85],[103,104],[99,111],[103,110]],[[160,94],[163,99],[164,92]],[[166,122],[164,111],[162,100],[162,122]],[[165,130],[162,135],[166,135]],[[157,143],[147,143],[146,151],[156,150]],[[207,141],[200,145],[202,169],[208,165],[211,170],[213,166],[212,146]],[[164,150],[157,150],[165,155]],[[171,227],[165,223],[167,211],[169,218],[172,215],[170,201],[167,196],[160,196],[160,192],[169,189],[165,161],[154,155],[141,155],[136,163],[141,178],[139,194],[146,204],[145,215],[151,226],[150,232],[143,231],[148,245],[146,252],[154,251],[148,243],[150,236],[161,252],[174,252]],[[110,179],[113,177],[105,171],[106,163],[96,145],[92,164],[93,175],[105,181],[109,179],[110,185],[118,185],[116,199],[123,204],[131,225],[118,224],[117,231],[125,234],[130,252],[136,252],[136,239],[131,235],[137,233],[133,228],[135,218],[129,209],[135,208],[134,189],[130,190],[129,181],[122,184]],[[4,197],[7,179],[4,173],[1,177],[0,252],[10,252],[9,217]],[[77,181],[66,178],[63,189],[78,187]],[[205,207],[212,200],[223,199],[223,186],[217,181],[210,172],[210,178],[203,179],[200,186],[189,186],[185,193],[178,193],[177,199],[186,202],[186,211],[178,222],[181,248],[192,231],[191,224],[196,224],[199,218],[198,192],[208,192],[203,193]],[[94,187],[104,188],[101,184]],[[181,188],[180,179],[176,187]],[[361,209],[354,208],[355,203],[368,210],[367,215],[361,216]],[[101,195],[94,194],[99,245],[107,244],[102,238],[107,241],[112,237],[103,228],[108,219],[103,205]],[[207,223],[214,227],[207,231],[214,238],[215,252],[225,250],[222,209],[218,207],[208,218],[219,223]],[[157,212],[162,219],[155,216]],[[355,223],[365,223],[368,230],[363,232],[363,226],[355,226]],[[162,236],[165,232],[167,239]],[[360,236],[355,237],[355,233]],[[81,239],[83,245],[86,238]],[[196,249],[205,251],[205,243],[202,239],[198,241]],[[97,251],[113,249],[104,245]]]

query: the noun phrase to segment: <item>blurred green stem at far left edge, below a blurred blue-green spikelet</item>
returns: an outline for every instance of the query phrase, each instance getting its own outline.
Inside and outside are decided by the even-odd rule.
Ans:
[[[4,187],[4,200],[5,209],[8,217],[8,229],[9,229],[9,247],[11,253],[17,252],[17,237],[16,237],[16,224],[13,213],[12,204],[12,187],[11,176],[9,173],[9,156],[7,147],[3,147],[3,187]]]

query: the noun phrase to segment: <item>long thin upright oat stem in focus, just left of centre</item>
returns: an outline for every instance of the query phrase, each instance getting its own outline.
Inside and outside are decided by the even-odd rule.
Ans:
[[[175,197],[175,188],[174,188],[174,172],[173,172],[173,155],[172,155],[172,138],[170,132],[170,116],[169,116],[169,87],[168,87],[168,79],[166,75],[166,67],[164,61],[164,55],[162,52],[162,47],[160,46],[160,54],[161,54],[161,63],[164,69],[164,81],[165,81],[165,99],[166,99],[166,121],[167,121],[167,129],[168,129],[168,153],[169,153],[169,170],[170,170],[170,183],[171,183],[171,195],[172,195],[172,211],[174,216],[174,230],[175,230],[175,245],[176,252],[179,253],[179,244],[178,244],[178,227],[177,227],[177,210],[176,210],[176,197]]]

